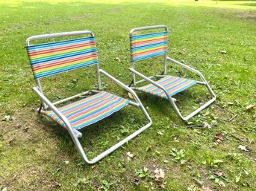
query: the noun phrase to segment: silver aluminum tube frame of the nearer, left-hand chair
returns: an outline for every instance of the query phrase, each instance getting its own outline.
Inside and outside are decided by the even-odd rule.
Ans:
[[[30,46],[31,40],[50,39],[50,38],[54,38],[54,37],[78,36],[78,35],[88,35],[88,34],[90,36],[94,36],[94,34],[91,31],[89,31],[89,30],[81,30],[81,31],[66,32],[66,33],[43,34],[43,35],[37,35],[37,36],[29,37],[26,40],[25,44],[28,47],[28,46]],[[96,90],[96,91],[95,90],[84,91],[81,94],[77,94],[75,96],[67,97],[67,98],[65,98],[63,100],[59,100],[59,101],[57,101],[55,103],[51,103],[51,101],[43,94],[43,88],[42,88],[42,86],[40,84],[40,79],[35,79],[37,87],[33,88],[34,92],[37,94],[38,97],[40,97],[40,100],[41,100],[41,106],[38,109],[39,113],[44,114],[44,112],[46,112],[46,109],[51,109],[52,111],[54,111],[54,114],[56,114],[57,117],[60,118],[60,120],[63,120],[63,123],[65,123],[66,129],[69,132],[69,135],[72,137],[72,140],[75,143],[75,146],[77,147],[78,152],[81,155],[81,158],[83,158],[84,161],[86,161],[88,164],[95,164],[96,162],[100,161],[102,158],[104,158],[105,156],[109,155],[111,152],[113,152],[114,150],[118,149],[120,146],[125,144],[128,140],[131,140],[132,138],[136,137],[137,135],[139,135],[141,132],[143,132],[145,129],[149,128],[149,126],[152,125],[151,117],[149,117],[148,112],[144,108],[143,104],[140,102],[140,99],[139,99],[139,97],[137,97],[137,94],[134,92],[134,90],[132,90],[127,85],[125,85],[124,83],[120,82],[115,77],[111,76],[110,74],[107,74],[106,71],[103,71],[102,69],[99,69],[99,63],[97,63],[95,65],[96,65],[96,76],[97,76],[97,82],[98,82],[98,90]],[[72,126],[71,126],[69,120],[59,111],[59,109],[57,109],[56,105],[60,104],[60,103],[64,103],[64,102],[66,102],[68,100],[72,100],[75,97],[80,97],[80,96],[87,95],[87,94],[90,94],[90,93],[97,93],[97,92],[99,92],[99,90],[102,89],[101,74],[104,75],[105,77],[107,77],[108,79],[112,80],[114,83],[116,83],[117,85],[121,86],[126,91],[128,91],[128,92],[130,92],[132,94],[132,96],[134,97],[135,102],[130,100],[129,105],[136,106],[137,108],[140,108],[141,111],[143,111],[143,114],[145,115],[148,123],[145,126],[143,126],[140,129],[138,129],[136,132],[134,132],[131,135],[129,135],[128,137],[125,137],[125,139],[119,141],[119,143],[116,143],[115,145],[111,146],[109,149],[107,149],[106,151],[102,152],[100,155],[96,156],[96,158],[93,158],[90,161],[90,160],[88,160],[87,155],[85,154],[84,149],[81,146],[80,141],[78,140],[78,138],[82,137],[82,133],[79,132],[76,129],[72,129]]]

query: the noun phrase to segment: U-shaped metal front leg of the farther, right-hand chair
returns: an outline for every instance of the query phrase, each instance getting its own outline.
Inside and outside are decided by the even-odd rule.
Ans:
[[[210,94],[212,96],[212,99],[207,101],[207,103],[205,103],[203,106],[200,106],[198,109],[196,109],[195,111],[193,111],[190,114],[188,114],[186,117],[184,117],[181,114],[181,112],[179,111],[179,109],[176,106],[175,102],[170,100],[170,103],[172,104],[173,108],[175,109],[176,114],[178,114],[178,116],[181,117],[182,120],[189,120],[191,117],[193,117],[194,115],[198,114],[200,111],[205,109],[207,106],[210,106],[210,104],[213,103],[216,100],[216,95],[213,93],[212,89],[207,84],[207,82],[205,83],[205,86],[206,86],[207,90],[210,92]]]

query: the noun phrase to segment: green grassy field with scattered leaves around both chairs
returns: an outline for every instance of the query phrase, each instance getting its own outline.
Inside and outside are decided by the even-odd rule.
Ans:
[[[37,116],[25,39],[92,30],[100,68],[128,84],[128,31],[146,25],[169,27],[169,56],[202,71],[217,100],[184,122],[166,101],[138,93],[152,126],[87,165],[65,130]],[[157,60],[138,70],[159,71]],[[0,190],[255,190],[255,62],[256,1],[0,0]],[[43,79],[46,95],[58,100],[95,88],[93,69]],[[187,75],[173,65],[169,74]],[[128,97],[102,80],[105,90]],[[176,96],[181,111],[205,101],[204,92],[191,88]],[[126,107],[84,129],[81,142],[93,158],[144,121],[140,111]],[[156,180],[155,169],[164,177]]]

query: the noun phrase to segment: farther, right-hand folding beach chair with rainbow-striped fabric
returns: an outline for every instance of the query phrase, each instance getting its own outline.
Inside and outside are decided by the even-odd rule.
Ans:
[[[141,31],[145,30],[160,30],[160,32],[156,33],[147,33],[142,34]],[[134,33],[136,33],[134,35]],[[171,105],[173,106],[176,114],[181,117],[183,120],[189,120],[195,114],[202,111],[207,106],[216,100],[216,96],[211,90],[210,86],[208,85],[205,77],[193,68],[190,68],[187,65],[184,65],[181,62],[176,61],[175,59],[169,58],[167,56],[167,39],[168,39],[168,27],[164,25],[157,25],[157,26],[149,26],[149,27],[137,27],[130,31],[130,46],[131,46],[131,68],[129,70],[132,72],[132,82],[129,86],[133,85],[133,89],[137,91],[142,91],[146,94],[151,94],[156,97],[160,97],[163,100],[169,100]],[[138,62],[143,59],[148,59],[154,56],[163,56],[163,73],[160,75],[155,75],[152,77],[146,77],[145,75],[141,74],[140,72],[135,70],[135,62]],[[202,79],[202,82],[196,80],[190,80],[181,77],[173,77],[166,75],[167,71],[167,62],[173,62],[176,65],[180,65],[183,68],[186,68],[189,71],[192,71]],[[135,75],[143,78],[143,80],[137,81],[135,80]],[[153,78],[160,78],[160,80],[153,81]],[[145,85],[143,87],[137,87],[140,82],[149,82],[149,85]],[[178,94],[181,91],[184,91],[190,86],[199,84],[205,85],[207,90],[210,92],[212,99],[205,103],[203,106],[200,106],[199,109],[193,111],[192,113],[188,114],[187,117],[182,116],[181,112],[179,111],[178,107],[175,104],[175,99],[172,98],[173,95]]]

